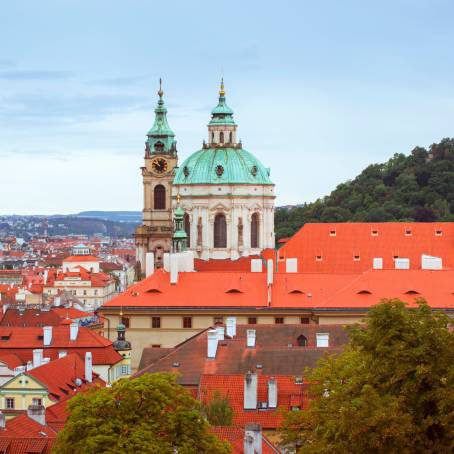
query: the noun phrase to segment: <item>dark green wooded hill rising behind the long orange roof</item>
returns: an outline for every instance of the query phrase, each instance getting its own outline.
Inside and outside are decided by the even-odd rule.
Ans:
[[[276,210],[277,239],[306,222],[454,221],[454,139],[372,164],[313,203]]]

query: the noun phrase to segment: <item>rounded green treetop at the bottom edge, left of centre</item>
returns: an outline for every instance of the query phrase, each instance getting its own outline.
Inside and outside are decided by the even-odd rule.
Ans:
[[[79,393],[54,453],[229,453],[173,374],[144,374]]]

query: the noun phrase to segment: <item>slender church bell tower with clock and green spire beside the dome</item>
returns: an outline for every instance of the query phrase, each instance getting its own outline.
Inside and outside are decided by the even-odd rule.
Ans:
[[[136,256],[140,263],[140,277],[145,276],[145,257],[153,252],[155,267],[163,265],[163,256],[172,247],[172,181],[178,163],[175,133],[167,122],[164,92],[159,80],[158,105],[155,120],[147,132],[143,177],[143,223],[137,227],[134,238]]]

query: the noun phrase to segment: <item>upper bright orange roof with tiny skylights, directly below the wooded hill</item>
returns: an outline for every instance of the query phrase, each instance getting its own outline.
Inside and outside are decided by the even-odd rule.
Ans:
[[[306,273],[358,273],[371,269],[375,257],[390,269],[394,256],[409,258],[411,269],[420,269],[422,254],[442,257],[443,267],[454,269],[453,246],[453,222],[305,224],[278,255],[298,258],[298,271]],[[280,266],[285,269],[284,262]]]

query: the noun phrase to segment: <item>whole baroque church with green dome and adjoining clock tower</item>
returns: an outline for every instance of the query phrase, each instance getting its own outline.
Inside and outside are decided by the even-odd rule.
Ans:
[[[180,167],[162,90],[159,96],[142,169],[143,225],[135,235],[141,275],[147,252],[154,253],[155,266],[160,268],[163,254],[172,250],[172,208],[177,207],[177,197],[184,210],[186,246],[197,258],[236,260],[274,247],[275,195],[270,170],[237,139],[224,84],[211,112],[208,140]]]

